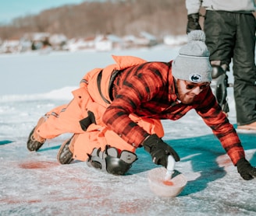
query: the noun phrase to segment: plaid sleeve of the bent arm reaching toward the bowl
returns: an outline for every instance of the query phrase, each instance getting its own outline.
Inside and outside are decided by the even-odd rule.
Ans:
[[[123,81],[118,95],[102,117],[112,131],[136,148],[149,134],[136,122],[130,120],[129,115],[138,110],[141,103],[150,101],[161,88],[163,81],[159,71],[163,69],[169,70],[166,64],[150,64],[150,66],[141,64],[139,67],[133,68],[133,75]]]

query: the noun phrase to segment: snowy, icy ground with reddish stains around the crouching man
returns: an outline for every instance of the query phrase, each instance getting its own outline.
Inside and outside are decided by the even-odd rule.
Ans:
[[[87,71],[112,64],[111,55],[169,61],[179,47],[129,51],[52,52],[0,55],[1,215],[255,215],[255,179],[244,181],[217,138],[194,111],[164,120],[164,140],[179,153],[175,169],[188,183],[178,197],[158,197],[148,185],[157,165],[143,148],[126,176],[89,168],[86,162],[60,165],[59,146],[71,134],[48,140],[38,152],[27,137],[48,110],[72,99]],[[232,76],[232,75],[231,75]],[[232,77],[231,77],[232,78]],[[236,125],[232,88],[229,120]],[[254,134],[239,134],[247,159],[256,165]]]

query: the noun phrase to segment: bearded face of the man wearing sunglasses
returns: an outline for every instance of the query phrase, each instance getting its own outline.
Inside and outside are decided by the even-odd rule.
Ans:
[[[195,96],[199,95],[201,91],[208,88],[211,82],[188,82],[182,79],[176,80],[178,89],[178,99],[181,103],[190,104],[194,102]]]

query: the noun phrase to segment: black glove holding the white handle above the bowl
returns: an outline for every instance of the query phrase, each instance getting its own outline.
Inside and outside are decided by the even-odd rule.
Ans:
[[[176,162],[180,161],[180,156],[175,150],[158,138],[156,134],[149,136],[143,143],[145,151],[151,154],[153,162],[157,165],[167,167],[168,156],[172,155]]]

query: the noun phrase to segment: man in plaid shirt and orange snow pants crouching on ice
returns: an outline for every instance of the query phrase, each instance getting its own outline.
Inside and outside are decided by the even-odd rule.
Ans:
[[[245,159],[235,129],[210,88],[212,67],[201,30],[170,62],[147,62],[137,57],[115,57],[116,64],[96,68],[84,76],[69,105],[45,114],[30,133],[27,148],[37,151],[45,139],[66,132],[57,159],[73,159],[123,175],[137,159],[136,148],[144,147],[153,162],[167,166],[169,155],[180,161],[176,151],[162,141],[162,119],[178,120],[195,109],[221,141],[244,179],[256,176]]]

